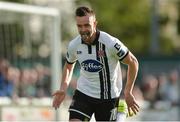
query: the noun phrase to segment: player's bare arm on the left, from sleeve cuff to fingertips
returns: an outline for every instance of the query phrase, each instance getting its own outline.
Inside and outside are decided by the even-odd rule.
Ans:
[[[67,62],[64,65],[60,89],[57,90],[55,93],[53,93],[54,96],[53,107],[55,109],[59,108],[60,104],[65,98],[66,91],[73,74],[74,65],[75,63],[67,63]]]

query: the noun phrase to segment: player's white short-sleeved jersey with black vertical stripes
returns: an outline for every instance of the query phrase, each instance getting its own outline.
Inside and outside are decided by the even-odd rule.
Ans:
[[[80,77],[77,89],[82,93],[99,99],[119,97],[122,89],[120,62],[128,48],[120,40],[97,31],[92,45],[84,44],[80,36],[68,46],[67,62],[79,62]]]

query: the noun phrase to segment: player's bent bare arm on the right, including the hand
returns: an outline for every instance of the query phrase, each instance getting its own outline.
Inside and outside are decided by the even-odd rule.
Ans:
[[[133,91],[134,83],[137,77],[139,63],[136,57],[130,51],[124,57],[122,62],[128,65],[127,82],[124,89],[125,100],[128,105],[128,111],[130,112],[132,110],[136,114],[139,111],[139,105],[137,104],[132,94],[132,91]]]

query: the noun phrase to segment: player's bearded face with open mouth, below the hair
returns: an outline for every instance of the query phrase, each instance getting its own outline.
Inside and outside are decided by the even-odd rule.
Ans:
[[[96,32],[96,20],[92,15],[76,17],[77,28],[82,40],[90,44]]]

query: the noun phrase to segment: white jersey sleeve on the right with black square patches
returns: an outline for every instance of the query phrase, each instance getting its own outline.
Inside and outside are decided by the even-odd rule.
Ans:
[[[122,61],[128,54],[128,48],[117,38],[112,42],[112,53],[120,61]]]

